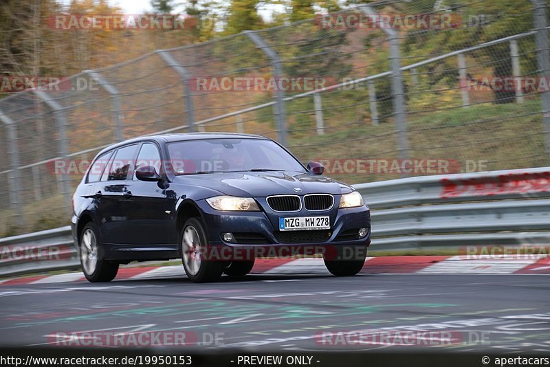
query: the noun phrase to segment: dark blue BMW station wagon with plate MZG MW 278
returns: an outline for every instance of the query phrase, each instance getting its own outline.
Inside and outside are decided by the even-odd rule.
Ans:
[[[157,135],[109,146],[73,197],[83,273],[106,282],[120,264],[181,258],[190,280],[208,282],[248,274],[257,257],[314,249],[332,274],[357,274],[371,243],[369,208],[323,170],[259,135]]]

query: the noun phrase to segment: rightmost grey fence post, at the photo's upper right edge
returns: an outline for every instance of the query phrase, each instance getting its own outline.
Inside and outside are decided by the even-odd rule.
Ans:
[[[544,0],[531,0],[534,5],[535,34],[538,73],[540,78],[550,80],[550,49],[548,43],[547,4]],[[550,156],[550,91],[541,91],[542,121],[546,135],[546,153]]]

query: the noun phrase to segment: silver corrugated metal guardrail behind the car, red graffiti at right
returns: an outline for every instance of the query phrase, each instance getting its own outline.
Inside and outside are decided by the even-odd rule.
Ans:
[[[550,243],[550,167],[410,177],[355,188],[372,209],[373,249]],[[68,225],[2,238],[0,249],[0,276],[79,267]],[[11,256],[21,252],[32,258]]]

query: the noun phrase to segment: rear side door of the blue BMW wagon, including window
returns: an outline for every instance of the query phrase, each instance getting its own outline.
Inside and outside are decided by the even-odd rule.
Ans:
[[[125,232],[124,201],[128,196],[128,178],[133,173],[133,162],[139,144],[119,148],[111,157],[99,183],[96,183],[98,200],[98,226],[102,243],[128,244]]]

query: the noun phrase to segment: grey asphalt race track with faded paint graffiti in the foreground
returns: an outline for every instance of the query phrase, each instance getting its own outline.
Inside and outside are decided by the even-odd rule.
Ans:
[[[60,345],[58,335],[65,335],[60,333],[83,331],[184,331],[188,348],[200,351],[550,351],[546,276],[250,275],[224,276],[211,284],[186,278],[67,282],[5,286],[0,304],[3,346]],[[452,342],[404,343],[388,339],[388,333],[375,342],[337,337],[373,330],[432,331],[435,339],[450,333],[445,335],[452,335]]]

